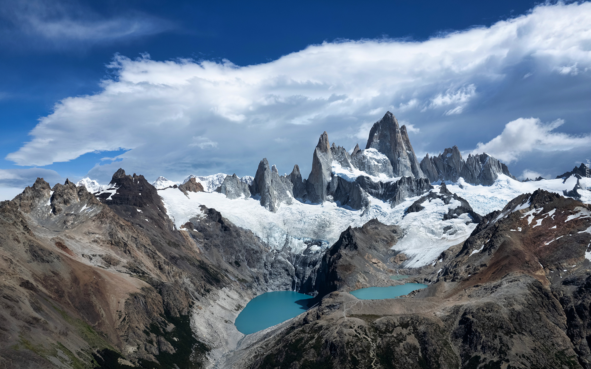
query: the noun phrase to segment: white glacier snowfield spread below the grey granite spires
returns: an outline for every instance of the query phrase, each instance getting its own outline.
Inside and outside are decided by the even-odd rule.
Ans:
[[[575,177],[566,181],[545,179],[519,182],[501,174],[491,186],[470,185],[460,178],[457,182],[446,183],[446,187],[450,192],[467,200],[476,213],[485,215],[491,211],[501,210],[520,194],[533,192],[538,188],[561,194],[563,190],[572,190],[575,184]],[[431,191],[439,192],[440,186],[434,187]],[[581,192],[584,192],[582,201],[591,201],[591,192]],[[251,230],[272,250],[281,250],[289,246],[294,253],[303,252],[306,249],[304,241],[307,240],[322,241],[322,248],[330,246],[349,226],[361,227],[367,221],[376,218],[384,224],[398,225],[404,231],[404,236],[393,249],[408,256],[409,260],[403,264],[408,268],[433,263],[443,250],[465,241],[476,227],[475,223],[470,223],[467,214],[443,220],[443,215],[450,208],[457,207],[453,201],[447,205],[436,200],[430,203],[426,201],[422,204],[423,210],[405,215],[405,210],[420,196],[407,198],[394,208],[389,203],[370,197],[368,207],[361,210],[339,207],[338,204],[328,201],[322,204],[309,204],[294,199],[292,204],[283,204],[277,213],[272,213],[262,207],[254,197],[230,200],[217,192],[190,192],[184,195],[176,188],[167,188],[158,191],[158,194],[163,198],[168,216],[177,228],[190,218],[199,217],[202,214],[199,206],[205,205],[215,208],[236,226]],[[451,230],[444,231],[444,228],[449,229],[450,226]]]

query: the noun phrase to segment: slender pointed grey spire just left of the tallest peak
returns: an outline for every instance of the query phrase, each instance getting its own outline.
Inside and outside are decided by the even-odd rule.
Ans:
[[[306,181],[307,197],[312,203],[318,204],[329,200],[327,187],[332,176],[332,160],[329,136],[325,131],[314,149],[312,170]]]

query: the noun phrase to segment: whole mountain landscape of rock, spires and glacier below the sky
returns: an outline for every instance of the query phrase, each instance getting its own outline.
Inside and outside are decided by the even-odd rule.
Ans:
[[[310,152],[307,178],[264,158],[2,201],[0,368],[591,369],[586,165],[521,182],[457,146],[418,162],[390,112],[365,149],[323,132]],[[238,331],[275,291],[313,298]]]

